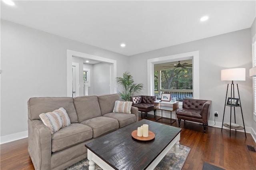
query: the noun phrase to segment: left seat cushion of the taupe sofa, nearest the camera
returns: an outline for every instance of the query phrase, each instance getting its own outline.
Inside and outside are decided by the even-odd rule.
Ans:
[[[80,123],[72,123],[52,134],[52,152],[68,148],[92,138],[92,128]]]

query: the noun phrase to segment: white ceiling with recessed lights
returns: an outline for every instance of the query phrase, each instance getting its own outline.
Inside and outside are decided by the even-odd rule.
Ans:
[[[250,28],[255,2],[1,1],[1,18],[130,56]]]

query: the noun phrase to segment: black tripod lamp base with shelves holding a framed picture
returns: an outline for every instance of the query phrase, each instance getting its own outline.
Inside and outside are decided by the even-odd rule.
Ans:
[[[230,91],[230,97],[228,97],[228,100],[227,100],[227,96],[228,96],[228,87],[231,87],[231,91]],[[221,127],[221,132],[222,132],[222,129],[223,129],[223,126],[225,127],[228,127],[229,128],[229,136],[231,136],[231,129],[244,129],[244,134],[245,134],[245,137],[246,137],[246,131],[245,131],[245,126],[242,127],[242,126],[232,126],[232,125],[237,125],[236,124],[236,110],[235,108],[236,107],[240,107],[241,109],[241,114],[242,114],[242,119],[243,119],[243,125],[244,125],[244,116],[243,116],[243,111],[242,111],[242,104],[241,104],[241,100],[240,100],[240,94],[239,94],[239,89],[238,89],[238,84],[236,84],[236,87],[237,87],[237,92],[238,92],[238,99],[235,98],[234,96],[234,81],[232,81],[231,84],[228,84],[228,87],[227,87],[227,92],[226,92],[226,100],[225,100],[225,106],[224,106],[224,112],[223,112],[223,119],[222,119],[222,127]],[[233,101],[236,101],[235,103],[233,103]],[[240,104],[238,105],[238,101],[240,102]],[[224,123],[224,116],[225,116],[225,109],[226,109],[226,106],[230,107],[230,123]],[[231,123],[231,117],[232,117],[232,107],[234,108],[234,121],[235,123]]]

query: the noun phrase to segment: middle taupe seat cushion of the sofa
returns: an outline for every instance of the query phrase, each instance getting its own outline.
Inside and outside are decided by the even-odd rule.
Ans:
[[[92,128],[93,138],[97,138],[102,134],[116,130],[119,127],[118,121],[116,119],[102,116],[94,117],[81,123]]]

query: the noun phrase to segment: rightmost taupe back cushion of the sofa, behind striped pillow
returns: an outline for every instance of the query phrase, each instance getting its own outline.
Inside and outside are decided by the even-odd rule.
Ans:
[[[101,95],[98,96],[98,101],[100,105],[101,115],[113,112],[115,102],[120,100],[119,94]]]

